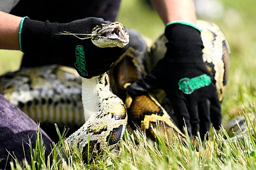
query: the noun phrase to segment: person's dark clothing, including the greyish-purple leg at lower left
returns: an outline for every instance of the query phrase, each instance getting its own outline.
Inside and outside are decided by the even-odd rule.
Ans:
[[[10,14],[29,17],[30,19],[45,22],[68,23],[86,17],[101,17],[107,21],[115,21],[120,0],[4,0],[1,1],[0,10]],[[10,10],[10,8],[12,8]],[[39,64],[37,64],[39,63]],[[49,64],[60,64],[59,58],[47,55],[47,51],[26,53],[22,59],[21,67],[35,67]],[[0,94],[0,169],[9,169],[8,151],[14,152],[18,161],[26,156],[30,163],[28,139],[31,138],[32,147],[35,147],[37,136],[37,123],[30,119],[24,112],[8,102]],[[46,155],[49,154],[52,140],[42,131],[46,144]],[[24,146],[24,151],[22,148]],[[24,155],[25,152],[25,155]]]

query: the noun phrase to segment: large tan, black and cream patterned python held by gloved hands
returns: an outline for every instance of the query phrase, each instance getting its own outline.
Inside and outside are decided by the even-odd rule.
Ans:
[[[203,60],[214,77],[222,101],[229,69],[229,45],[215,24],[198,21],[198,26],[205,46]],[[130,40],[128,51],[103,75],[85,79],[73,68],[58,65],[23,68],[0,76],[0,93],[34,120],[79,127],[66,141],[78,142],[84,158],[88,147],[90,153],[95,149],[113,148],[122,138],[127,122],[132,128],[146,129],[153,137],[151,127],[158,122],[170,137],[171,134],[184,136],[170,117],[171,109],[163,107],[165,98],[156,97],[158,92],[133,100],[126,95],[127,83],[145,76],[166,50],[164,35],[151,45],[136,31],[128,30],[128,33],[118,22],[93,29],[92,34],[97,35],[91,40],[100,47],[102,44],[102,47],[108,44],[122,47]],[[53,133],[53,129],[46,133]]]

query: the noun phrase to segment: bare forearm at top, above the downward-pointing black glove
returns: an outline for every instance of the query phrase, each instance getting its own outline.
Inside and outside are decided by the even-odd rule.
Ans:
[[[193,0],[151,0],[165,25],[173,21],[184,21],[196,25]]]

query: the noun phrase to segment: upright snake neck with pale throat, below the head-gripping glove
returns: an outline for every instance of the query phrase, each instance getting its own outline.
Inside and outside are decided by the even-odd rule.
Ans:
[[[87,152],[112,149],[124,135],[127,112],[121,99],[110,91],[107,73],[91,79],[82,78],[82,103],[85,123],[72,135],[68,144],[79,144]]]

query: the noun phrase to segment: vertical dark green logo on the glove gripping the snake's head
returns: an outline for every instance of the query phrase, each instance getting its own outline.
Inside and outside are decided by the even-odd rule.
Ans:
[[[85,55],[83,51],[82,45],[77,45],[75,48],[75,57],[76,57],[76,63],[75,68],[82,76],[88,76],[88,73],[85,68]]]

